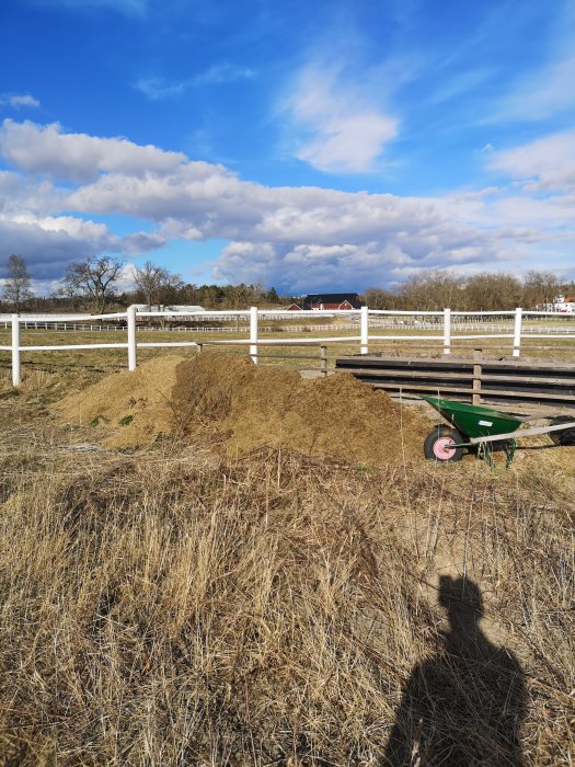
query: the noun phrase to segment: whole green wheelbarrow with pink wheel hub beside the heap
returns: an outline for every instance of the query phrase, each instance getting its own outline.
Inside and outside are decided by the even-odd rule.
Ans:
[[[465,402],[453,402],[437,397],[422,397],[446,421],[437,424],[424,442],[424,455],[428,460],[458,461],[464,451],[474,451],[493,466],[493,450],[504,450],[507,467],[511,465],[518,438],[550,434],[556,445],[575,444],[575,416],[526,416],[504,413],[493,408],[483,408]],[[529,421],[549,421],[548,426],[521,428]],[[519,431],[518,431],[519,430]]]

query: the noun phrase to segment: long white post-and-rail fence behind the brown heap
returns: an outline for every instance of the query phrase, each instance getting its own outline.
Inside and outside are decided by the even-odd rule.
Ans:
[[[149,330],[149,328],[139,328],[138,320],[143,318],[180,318],[186,321],[230,321],[238,320],[243,321],[246,324],[243,332],[249,332],[249,340],[244,339],[226,339],[226,340],[210,340],[210,345],[214,344],[226,344],[226,345],[249,345],[250,355],[254,363],[257,363],[257,347],[258,345],[294,345],[294,340],[284,339],[263,339],[262,334],[269,332],[273,329],[261,327],[261,320],[275,320],[275,321],[286,321],[289,320],[290,323],[295,319],[306,319],[313,318],[318,320],[317,311],[297,313],[292,311],[277,311],[277,310],[261,310],[257,307],[251,307],[249,310],[243,311],[204,311],[198,312],[196,316],[189,314],[189,312],[173,312],[173,311],[136,311],[136,307],[129,307],[125,312],[118,312],[114,314],[80,314],[80,316],[57,316],[55,317],[46,314],[44,317],[19,317],[18,314],[12,314],[10,321],[5,322],[5,327],[11,329],[11,345],[1,346],[0,352],[10,352],[12,360],[12,384],[13,386],[19,386],[21,382],[21,354],[28,352],[59,352],[67,350],[94,350],[94,348],[124,348],[127,350],[128,357],[128,369],[135,370],[137,366],[137,355],[138,348],[168,348],[168,347],[185,347],[185,346],[196,346],[202,347],[203,343],[198,341],[161,341],[161,342],[138,342],[137,331],[138,330]],[[564,328],[545,328],[539,324],[538,327],[529,327],[527,322],[529,320],[541,320],[553,319],[556,320],[556,312],[545,312],[545,311],[526,311],[521,308],[515,309],[513,311],[451,311],[451,309],[444,309],[442,311],[392,311],[392,310],[380,310],[380,309],[368,309],[368,307],[363,307],[361,309],[353,310],[337,310],[337,311],[325,311],[321,312],[323,318],[334,318],[334,317],[346,317],[349,324],[325,324],[325,325],[314,325],[315,330],[323,330],[333,332],[334,330],[352,330],[359,331],[358,334],[348,334],[342,336],[323,335],[323,337],[306,337],[298,340],[297,344],[325,344],[329,343],[358,343],[358,351],[360,354],[368,354],[370,342],[384,342],[384,341],[404,341],[404,342],[438,342],[442,346],[444,354],[451,353],[451,345],[453,341],[479,341],[483,339],[510,339],[513,347],[513,356],[518,357],[521,350],[521,339],[528,335],[537,334],[538,339],[561,339],[561,337],[573,337],[575,332],[575,325],[568,327],[565,323]],[[78,323],[94,323],[97,321],[117,321],[123,324],[123,327],[108,325],[106,330],[114,328],[114,330],[123,331],[127,333],[127,339],[125,342],[118,343],[91,343],[91,344],[60,344],[60,345],[22,345],[21,331],[22,329],[59,329],[62,324],[67,325],[65,329],[78,329],[87,330],[100,329],[101,325],[85,325]],[[566,318],[565,318],[566,320]],[[357,323],[354,325],[354,323]],[[0,325],[1,327],[1,325]],[[309,327],[309,325],[308,325]],[[294,325],[288,325],[290,330]],[[301,327],[300,327],[301,328]],[[393,333],[378,333],[381,330],[396,330]],[[197,332],[197,328],[193,329]],[[211,329],[210,329],[211,330]],[[223,328],[220,327],[220,330]],[[227,328],[227,332],[231,332],[234,329]],[[235,329],[238,332],[242,332],[239,328]],[[413,332],[412,332],[413,331]],[[423,331],[423,332],[422,332]],[[434,331],[429,333],[429,331]],[[482,331],[482,332],[478,332]],[[464,335],[461,333],[464,332]]]

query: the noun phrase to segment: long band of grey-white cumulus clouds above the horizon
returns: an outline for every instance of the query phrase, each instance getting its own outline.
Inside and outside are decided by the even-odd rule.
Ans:
[[[565,190],[544,197],[516,184],[426,198],[273,187],[127,139],[10,121],[2,131],[0,151],[15,169],[0,172],[0,253],[24,255],[34,276],[57,276],[91,253],[133,257],[173,240],[214,238],[229,241],[212,264],[216,279],[294,293],[361,289],[427,267],[537,267],[540,243],[548,253],[573,247],[566,232],[575,229],[575,192]],[[26,150],[24,138],[37,146]],[[517,178],[547,178],[548,153],[522,150],[494,151],[488,161]],[[67,183],[38,180],[47,169]],[[146,231],[118,236],[90,220],[120,215],[137,228],[148,221]]]

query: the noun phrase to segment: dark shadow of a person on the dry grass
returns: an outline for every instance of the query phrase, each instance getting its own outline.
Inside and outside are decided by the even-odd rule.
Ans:
[[[439,604],[449,631],[439,651],[413,669],[382,764],[522,767],[526,688],[519,662],[481,630],[475,583],[442,576]]]

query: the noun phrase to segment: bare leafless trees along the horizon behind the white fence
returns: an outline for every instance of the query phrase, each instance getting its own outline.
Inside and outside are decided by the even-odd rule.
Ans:
[[[133,289],[122,290],[122,281],[131,277]],[[446,307],[459,311],[498,311],[524,307],[545,308],[560,295],[575,295],[573,283],[562,282],[552,272],[530,271],[519,278],[505,272],[483,272],[464,277],[451,270],[427,270],[392,289],[370,287],[361,298],[371,309],[437,311]],[[158,306],[202,306],[205,309],[245,309],[249,306],[288,306],[294,296],[279,296],[262,284],[194,285],[147,261],[126,274],[125,263],[115,256],[89,256],[68,264],[62,279],[48,297],[36,297],[25,260],[12,254],[7,263],[1,309],[20,313],[91,311],[102,314],[112,308],[142,304]]]

